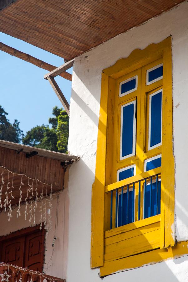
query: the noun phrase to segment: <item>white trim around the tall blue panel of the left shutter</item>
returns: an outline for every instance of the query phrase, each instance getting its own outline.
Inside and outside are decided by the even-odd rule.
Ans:
[[[131,104],[134,104],[132,154],[121,157],[121,155],[122,155],[122,137],[123,137],[122,136],[122,133],[123,133],[123,108],[126,107],[126,106],[129,106]],[[135,152],[136,152],[136,117],[135,117],[135,115],[136,115],[136,100],[121,106],[120,160],[127,159],[127,158],[135,155]]]

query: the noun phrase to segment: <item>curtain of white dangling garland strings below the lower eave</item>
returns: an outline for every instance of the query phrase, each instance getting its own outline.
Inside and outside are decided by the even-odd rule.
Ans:
[[[21,205],[25,204],[24,217],[28,222],[39,221],[40,229],[52,229],[52,184],[32,179],[25,174],[17,174],[0,166],[0,212],[7,212],[8,222],[12,209],[17,208],[17,218],[22,216]],[[40,196],[39,196],[40,195]],[[40,219],[37,220],[37,202],[40,201]]]

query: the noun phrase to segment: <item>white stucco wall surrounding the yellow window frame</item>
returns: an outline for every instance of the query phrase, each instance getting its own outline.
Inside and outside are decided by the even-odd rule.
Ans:
[[[98,269],[90,269],[91,191],[95,175],[96,142],[101,93],[101,71],[172,35],[173,127],[176,160],[176,238],[188,240],[187,135],[188,119],[188,2],[145,24],[101,44],[75,59],[70,104],[68,150],[80,155],[70,168],[68,197],[68,282],[100,281]],[[116,281],[187,281],[188,257],[168,260],[105,277]]]

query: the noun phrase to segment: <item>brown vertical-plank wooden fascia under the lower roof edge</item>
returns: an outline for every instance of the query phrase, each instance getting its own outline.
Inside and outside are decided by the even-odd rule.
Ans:
[[[26,158],[26,153],[0,147],[0,165],[8,170],[51,183],[54,191],[63,189],[65,168],[61,162],[40,156]]]

